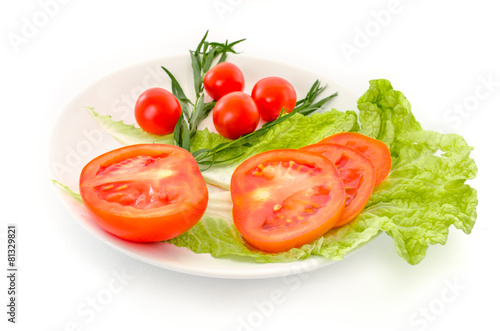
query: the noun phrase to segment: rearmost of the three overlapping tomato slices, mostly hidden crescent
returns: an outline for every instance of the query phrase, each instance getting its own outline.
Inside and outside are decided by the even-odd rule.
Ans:
[[[340,144],[363,153],[364,156],[372,161],[377,171],[375,186],[382,183],[391,171],[391,152],[383,141],[373,139],[357,132],[341,132],[327,137],[319,143]]]

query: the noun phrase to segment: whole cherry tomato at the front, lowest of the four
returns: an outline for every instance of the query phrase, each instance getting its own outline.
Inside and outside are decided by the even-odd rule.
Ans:
[[[238,139],[255,131],[259,124],[259,111],[250,95],[231,92],[217,101],[212,118],[219,134],[229,139]]]

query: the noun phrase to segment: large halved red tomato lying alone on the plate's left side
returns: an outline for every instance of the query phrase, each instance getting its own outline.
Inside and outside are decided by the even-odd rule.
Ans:
[[[208,204],[193,156],[164,144],[131,145],[98,156],[81,172],[80,194],[97,224],[137,242],[186,232]]]

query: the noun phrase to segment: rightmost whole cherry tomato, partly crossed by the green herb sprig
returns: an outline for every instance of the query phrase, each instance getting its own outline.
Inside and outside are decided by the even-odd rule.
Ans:
[[[252,89],[252,98],[264,121],[274,121],[281,110],[291,112],[297,103],[297,94],[292,84],[280,77],[259,80]]]

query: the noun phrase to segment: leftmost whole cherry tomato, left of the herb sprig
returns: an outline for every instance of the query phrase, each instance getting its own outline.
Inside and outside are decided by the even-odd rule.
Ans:
[[[146,132],[166,135],[174,132],[182,114],[179,100],[169,91],[153,87],[144,91],[135,103],[135,119]]]

